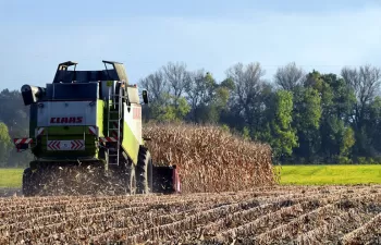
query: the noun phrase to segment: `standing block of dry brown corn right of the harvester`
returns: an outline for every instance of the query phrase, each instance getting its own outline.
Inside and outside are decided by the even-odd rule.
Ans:
[[[271,148],[218,126],[150,124],[144,135],[157,164],[176,164],[184,193],[243,191],[273,185]]]

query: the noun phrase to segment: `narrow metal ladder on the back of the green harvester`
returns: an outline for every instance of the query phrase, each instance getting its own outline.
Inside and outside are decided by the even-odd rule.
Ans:
[[[108,131],[107,137],[109,138],[109,145],[112,147],[107,148],[107,161],[109,166],[119,166],[121,156],[121,120],[123,117],[123,84],[120,84],[119,94],[112,93],[109,88],[108,99]],[[112,105],[110,106],[110,101]]]

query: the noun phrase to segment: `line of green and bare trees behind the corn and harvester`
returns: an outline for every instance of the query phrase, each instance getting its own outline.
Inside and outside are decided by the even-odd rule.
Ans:
[[[205,69],[169,62],[138,82],[150,103],[143,120],[218,124],[268,143],[281,163],[381,162],[381,70],[344,66],[305,72],[295,63],[272,79],[258,62],[236,63],[217,81]],[[0,93],[0,167],[25,166],[11,138],[28,135],[28,107],[19,90]]]

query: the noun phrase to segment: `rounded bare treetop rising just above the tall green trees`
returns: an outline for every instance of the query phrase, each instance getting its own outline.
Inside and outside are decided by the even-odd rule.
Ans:
[[[278,86],[285,90],[294,90],[302,84],[305,78],[305,72],[302,68],[297,68],[295,62],[288,63],[285,66],[279,68],[274,75],[274,82]]]

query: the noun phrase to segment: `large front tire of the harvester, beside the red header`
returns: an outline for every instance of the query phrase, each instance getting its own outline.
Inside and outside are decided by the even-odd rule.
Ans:
[[[140,147],[136,166],[137,194],[149,194],[152,189],[152,160],[146,147]]]

